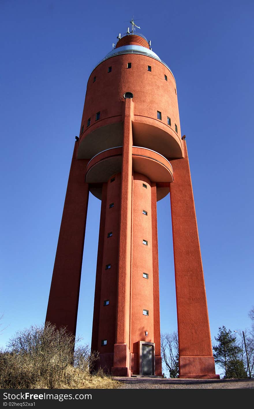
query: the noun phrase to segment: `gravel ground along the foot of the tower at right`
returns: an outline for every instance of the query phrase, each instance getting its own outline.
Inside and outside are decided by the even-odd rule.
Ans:
[[[114,377],[119,389],[254,389],[254,379],[167,379]]]

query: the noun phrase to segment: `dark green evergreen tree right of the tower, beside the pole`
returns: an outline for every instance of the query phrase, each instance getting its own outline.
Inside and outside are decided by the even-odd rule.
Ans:
[[[225,369],[225,378],[231,378],[234,369],[240,368],[238,356],[241,354],[241,348],[236,345],[236,337],[231,333],[231,330],[226,330],[225,326],[219,327],[218,336],[215,337],[218,342],[217,345],[213,345],[214,361],[216,364]],[[237,370],[237,373],[239,371]],[[246,375],[246,373],[245,373]],[[245,378],[245,376],[244,376]]]

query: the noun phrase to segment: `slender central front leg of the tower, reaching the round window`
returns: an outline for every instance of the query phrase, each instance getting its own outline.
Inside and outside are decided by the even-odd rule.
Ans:
[[[132,99],[125,99],[123,109],[123,162],[119,231],[119,261],[114,345],[115,376],[130,376],[130,276],[131,276],[131,208],[132,208]]]

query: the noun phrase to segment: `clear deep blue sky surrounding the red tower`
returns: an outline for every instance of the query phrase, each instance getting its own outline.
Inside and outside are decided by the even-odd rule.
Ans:
[[[253,251],[253,1],[0,2],[0,344],[45,320],[86,84],[126,20],[177,83],[211,337],[250,327]],[[141,20],[142,19],[142,20]],[[77,334],[91,342],[100,201],[90,196]],[[176,330],[169,197],[158,202],[161,332]]]

